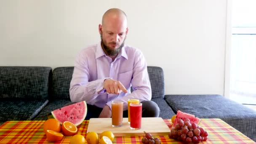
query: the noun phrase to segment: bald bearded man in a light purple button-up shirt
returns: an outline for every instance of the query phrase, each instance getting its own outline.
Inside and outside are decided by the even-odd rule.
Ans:
[[[92,117],[111,117],[111,101],[124,102],[127,117],[128,99],[139,99],[142,117],[158,117],[160,110],[151,99],[147,64],[136,48],[124,45],[128,33],[126,14],[117,8],[106,11],[99,24],[101,43],[78,54],[70,83],[72,102],[86,101]],[[133,92],[131,93],[131,86]]]

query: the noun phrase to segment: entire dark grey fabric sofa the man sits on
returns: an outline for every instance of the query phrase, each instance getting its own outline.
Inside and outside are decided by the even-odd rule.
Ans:
[[[47,113],[67,104],[74,67],[0,67],[0,125],[7,120],[46,120]],[[220,95],[164,95],[160,67],[147,67],[152,101],[160,117],[177,110],[199,118],[221,118],[256,141],[256,112]]]

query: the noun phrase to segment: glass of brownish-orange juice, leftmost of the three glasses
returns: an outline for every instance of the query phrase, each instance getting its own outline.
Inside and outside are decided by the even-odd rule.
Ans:
[[[123,125],[123,101],[112,101],[112,127]]]

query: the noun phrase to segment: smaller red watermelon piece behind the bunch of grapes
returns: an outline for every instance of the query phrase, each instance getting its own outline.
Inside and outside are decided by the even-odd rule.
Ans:
[[[181,112],[180,110],[178,110],[176,118],[173,123],[173,127],[175,127],[175,125],[177,124],[178,119],[185,120],[186,118],[188,118],[190,120],[191,124],[196,123],[197,125],[199,125],[199,123],[201,122],[201,119],[198,117],[195,117],[195,115],[191,115],[186,112]]]

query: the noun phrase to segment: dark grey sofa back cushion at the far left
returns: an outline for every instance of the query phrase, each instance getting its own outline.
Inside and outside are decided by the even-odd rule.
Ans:
[[[51,67],[0,67],[0,98],[47,99]]]

